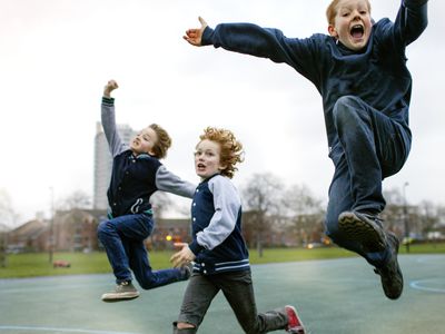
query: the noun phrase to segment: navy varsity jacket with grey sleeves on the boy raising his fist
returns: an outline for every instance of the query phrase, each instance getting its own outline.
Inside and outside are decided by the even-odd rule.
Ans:
[[[101,119],[112,155],[111,181],[107,193],[111,217],[149,212],[150,196],[156,190],[188,198],[194,196],[195,185],[168,171],[156,157],[148,154],[135,156],[121,141],[116,129],[113,98],[102,98]]]

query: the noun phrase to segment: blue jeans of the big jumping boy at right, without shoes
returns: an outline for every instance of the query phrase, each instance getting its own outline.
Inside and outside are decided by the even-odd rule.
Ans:
[[[411,149],[411,132],[362,99],[346,96],[333,111],[337,137],[329,157],[335,173],[329,187],[326,234],[339,246],[358,253],[372,265],[383,264],[387,250],[366,254],[362,245],[345,238],[338,215],[346,210],[378,215],[385,208],[382,181],[396,174]]]

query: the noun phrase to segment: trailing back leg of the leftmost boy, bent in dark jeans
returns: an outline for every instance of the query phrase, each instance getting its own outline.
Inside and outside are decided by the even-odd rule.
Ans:
[[[136,281],[145,289],[186,281],[190,276],[189,268],[152,271],[144,240],[130,240],[128,255]]]

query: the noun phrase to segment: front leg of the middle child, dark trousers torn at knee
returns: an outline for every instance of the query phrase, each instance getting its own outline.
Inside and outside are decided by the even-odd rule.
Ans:
[[[174,323],[174,333],[196,333],[218,292],[211,277],[192,274],[182,298],[178,322]]]

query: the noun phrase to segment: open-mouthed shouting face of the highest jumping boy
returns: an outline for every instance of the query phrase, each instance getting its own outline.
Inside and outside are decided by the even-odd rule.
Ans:
[[[328,27],[330,36],[354,51],[366,47],[372,30],[367,1],[343,0],[338,2],[336,11],[335,23]]]

